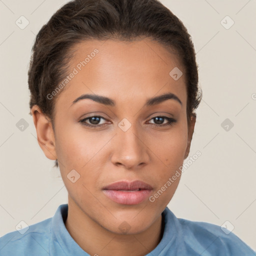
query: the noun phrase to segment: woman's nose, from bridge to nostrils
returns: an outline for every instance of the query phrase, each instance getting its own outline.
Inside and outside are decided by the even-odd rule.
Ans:
[[[148,164],[149,152],[145,141],[145,135],[138,133],[136,125],[123,131],[117,127],[117,134],[112,141],[111,162],[126,169],[136,169]]]

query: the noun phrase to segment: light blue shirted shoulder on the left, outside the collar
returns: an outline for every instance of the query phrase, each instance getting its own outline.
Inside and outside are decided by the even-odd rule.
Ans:
[[[48,255],[51,219],[47,218],[30,226],[22,226],[20,223],[16,231],[1,236],[0,255],[33,255],[37,251],[37,256]]]

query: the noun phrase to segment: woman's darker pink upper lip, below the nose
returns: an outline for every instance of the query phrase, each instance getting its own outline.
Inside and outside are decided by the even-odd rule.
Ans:
[[[110,185],[104,186],[103,189],[108,190],[137,190],[137,189],[153,189],[149,184],[141,181],[117,181]]]

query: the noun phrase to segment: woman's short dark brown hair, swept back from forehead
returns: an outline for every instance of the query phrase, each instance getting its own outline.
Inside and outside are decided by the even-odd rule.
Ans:
[[[190,123],[201,100],[191,36],[183,23],[158,0],[72,0],[59,8],[36,35],[28,70],[29,107],[38,105],[52,121],[58,92],[47,95],[67,75],[72,48],[90,39],[150,38],[178,55],[186,77],[186,113]],[[31,112],[30,112],[31,114]],[[57,160],[55,165],[58,166]]]

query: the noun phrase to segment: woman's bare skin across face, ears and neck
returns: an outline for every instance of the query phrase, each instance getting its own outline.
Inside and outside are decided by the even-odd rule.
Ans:
[[[54,130],[37,105],[31,108],[37,139],[46,157],[58,159],[68,191],[65,226],[78,245],[90,255],[145,255],[162,237],[161,212],[180,176],[154,202],[147,198],[135,205],[112,201],[102,187],[118,180],[139,179],[153,187],[153,195],[182,165],[189,153],[195,116],[188,125],[185,75],[175,81],[169,72],[176,66],[183,74],[184,70],[176,55],[146,38],[79,43],[69,63],[70,71],[95,48],[99,50],[96,56],[58,95]],[[166,92],[174,93],[182,105],[167,99],[143,106],[146,99]],[[110,97],[116,105],[91,99],[72,104],[84,93]],[[91,115],[106,120],[93,124],[87,119],[86,123],[105,125],[91,128],[79,122]],[[157,122],[156,116],[176,122],[161,126],[168,120]],[[127,131],[118,127],[123,118],[131,124]],[[67,178],[72,169],[80,174],[74,183]],[[123,221],[128,223],[126,233],[118,228]]]

